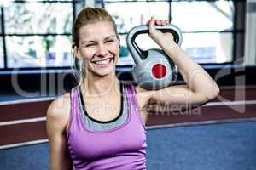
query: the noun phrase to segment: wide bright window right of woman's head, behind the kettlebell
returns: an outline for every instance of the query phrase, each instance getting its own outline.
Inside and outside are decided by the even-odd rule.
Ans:
[[[236,1],[105,0],[104,7],[118,25],[121,37],[119,65],[133,64],[125,45],[127,31],[133,26],[145,24],[150,16],[169,20],[178,26],[183,31],[182,48],[196,62],[218,64],[234,60],[238,34]],[[142,49],[157,47],[147,35],[138,36],[136,41]]]

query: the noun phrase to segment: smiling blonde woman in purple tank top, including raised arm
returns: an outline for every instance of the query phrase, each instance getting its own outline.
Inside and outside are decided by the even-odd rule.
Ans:
[[[83,61],[83,77],[71,93],[55,99],[47,111],[50,168],[146,169],[148,103],[201,105],[218,95],[218,86],[173,41],[172,34],[148,20],[149,36],[172,58],[186,85],[146,90],[119,82],[119,36],[102,8],[84,8],[73,23],[73,52]],[[86,76],[85,76],[86,75]]]

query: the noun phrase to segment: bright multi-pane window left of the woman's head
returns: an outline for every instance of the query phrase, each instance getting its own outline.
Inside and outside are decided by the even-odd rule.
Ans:
[[[1,7],[0,68],[73,64],[71,32],[82,0],[11,1]]]

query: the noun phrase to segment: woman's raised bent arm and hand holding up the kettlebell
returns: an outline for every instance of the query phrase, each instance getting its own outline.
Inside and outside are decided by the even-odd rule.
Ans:
[[[214,99],[218,95],[219,89],[212,77],[177,46],[171,33],[162,33],[154,28],[155,25],[166,26],[166,22],[151,19],[147,24],[149,36],[174,61],[183,76],[184,82],[186,82],[186,85],[170,86],[152,91],[150,94],[151,103],[191,106],[201,105],[210,99]]]

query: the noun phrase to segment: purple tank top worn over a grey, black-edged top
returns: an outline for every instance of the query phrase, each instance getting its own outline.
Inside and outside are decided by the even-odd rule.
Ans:
[[[146,169],[146,129],[138,111],[135,88],[125,84],[128,116],[108,130],[90,131],[82,120],[78,88],[71,91],[67,147],[76,170]]]

